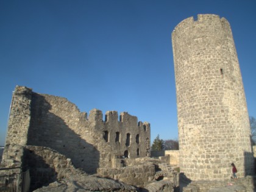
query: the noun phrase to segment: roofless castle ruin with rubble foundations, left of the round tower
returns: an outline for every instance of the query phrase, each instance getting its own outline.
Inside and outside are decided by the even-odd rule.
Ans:
[[[29,169],[30,190],[63,179],[65,188],[80,182],[76,187],[91,191],[137,191],[132,186],[151,188],[163,178],[168,180],[158,182],[159,188],[169,191],[179,185],[171,166],[149,158],[149,123],[127,112],[118,118],[108,111],[102,118],[100,110],[91,110],[87,118],[65,98],[16,86],[1,167]]]

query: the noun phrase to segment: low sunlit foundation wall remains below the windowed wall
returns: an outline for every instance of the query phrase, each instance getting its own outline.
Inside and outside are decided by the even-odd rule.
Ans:
[[[179,173],[161,160],[144,157],[123,161],[126,165],[123,168],[99,168],[98,176],[143,188],[149,183],[160,180],[168,180],[174,187],[179,186]]]

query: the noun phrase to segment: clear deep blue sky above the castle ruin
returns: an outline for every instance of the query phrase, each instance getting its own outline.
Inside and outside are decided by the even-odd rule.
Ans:
[[[249,115],[256,117],[256,1],[0,1],[0,145],[16,85],[67,98],[81,112],[128,112],[175,139],[171,32],[199,13],[233,32]]]

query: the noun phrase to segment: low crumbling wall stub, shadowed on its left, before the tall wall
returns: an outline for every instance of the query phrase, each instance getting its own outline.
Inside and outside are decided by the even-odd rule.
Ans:
[[[23,163],[23,169],[29,169],[30,172],[32,191],[77,171],[70,158],[41,146],[24,146]]]

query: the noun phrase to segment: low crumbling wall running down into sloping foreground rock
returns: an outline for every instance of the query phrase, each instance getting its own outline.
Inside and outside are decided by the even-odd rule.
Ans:
[[[23,163],[30,170],[30,191],[136,191],[115,180],[88,176],[74,168],[70,158],[41,146],[24,146]]]

